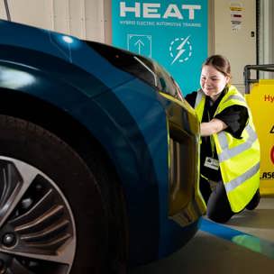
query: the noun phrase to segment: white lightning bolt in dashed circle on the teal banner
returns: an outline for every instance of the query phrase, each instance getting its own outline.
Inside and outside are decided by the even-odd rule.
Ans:
[[[176,38],[170,42],[169,54],[172,58],[171,65],[176,62],[182,63],[187,61],[192,55],[192,46],[189,37]]]

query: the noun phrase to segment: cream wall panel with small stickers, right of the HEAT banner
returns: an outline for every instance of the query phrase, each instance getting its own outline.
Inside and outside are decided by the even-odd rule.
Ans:
[[[242,11],[238,13],[242,17],[232,17],[237,12],[231,11],[230,7],[237,5],[242,5]],[[214,41],[211,48],[215,54],[223,54],[230,60],[232,83],[243,92],[243,68],[256,64],[256,1],[215,0],[213,8]],[[242,18],[238,30],[233,29],[232,18]],[[254,37],[251,37],[251,32],[254,32]]]

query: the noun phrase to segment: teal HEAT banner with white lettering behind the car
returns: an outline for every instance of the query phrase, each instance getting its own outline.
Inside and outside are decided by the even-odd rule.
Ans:
[[[207,57],[207,0],[113,0],[113,44],[157,60],[184,95]]]

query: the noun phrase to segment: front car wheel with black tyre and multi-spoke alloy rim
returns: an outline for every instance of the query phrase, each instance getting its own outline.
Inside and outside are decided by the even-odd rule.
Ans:
[[[0,273],[107,272],[99,182],[68,144],[0,115]]]

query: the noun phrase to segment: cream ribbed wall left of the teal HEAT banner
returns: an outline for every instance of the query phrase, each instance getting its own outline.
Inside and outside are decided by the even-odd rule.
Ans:
[[[8,0],[12,21],[110,42],[111,0]],[[6,19],[0,0],[0,18]]]

